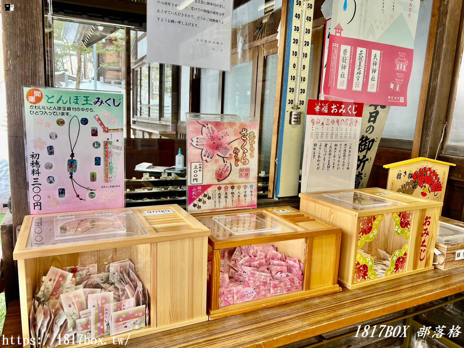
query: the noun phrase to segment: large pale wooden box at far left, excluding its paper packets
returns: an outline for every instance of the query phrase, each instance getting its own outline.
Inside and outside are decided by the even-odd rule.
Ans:
[[[209,235],[209,229],[177,205],[26,216],[13,252],[13,258],[18,260],[23,337],[30,338],[29,314],[34,296],[37,298],[35,291],[52,266],[57,270],[96,264],[98,277],[103,279],[109,272],[106,274],[111,284],[109,264],[127,259],[133,264],[131,271],[143,284],[143,292],[146,289],[148,293],[145,303],[149,319],[139,323],[142,325],[136,330],[117,337],[127,337],[129,333],[130,337],[149,335],[208,320]],[[53,281],[44,277],[44,282],[49,280]],[[100,288],[99,284],[94,285]],[[63,302],[60,293],[63,294],[60,291],[56,299]],[[77,322],[67,316],[66,319],[68,327]],[[127,327],[123,330],[127,331]],[[103,335],[102,340],[112,342],[109,335]]]

